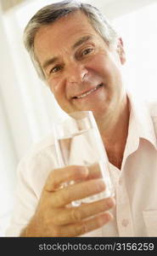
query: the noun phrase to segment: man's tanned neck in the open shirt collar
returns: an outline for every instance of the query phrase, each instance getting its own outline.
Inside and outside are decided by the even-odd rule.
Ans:
[[[98,123],[98,129],[108,154],[109,162],[121,169],[121,163],[126,146],[126,138],[129,124],[129,102],[127,98],[121,104],[119,111],[110,119],[104,119]]]

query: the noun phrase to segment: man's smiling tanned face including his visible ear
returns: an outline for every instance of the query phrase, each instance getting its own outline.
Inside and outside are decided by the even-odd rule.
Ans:
[[[121,107],[121,64],[125,62],[121,41],[109,49],[80,11],[40,28],[35,53],[66,113],[91,110],[102,118]]]

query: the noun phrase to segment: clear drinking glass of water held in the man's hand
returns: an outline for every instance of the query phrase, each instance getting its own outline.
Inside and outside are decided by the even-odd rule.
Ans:
[[[63,122],[54,125],[55,147],[59,167],[87,166],[95,168],[97,177],[102,178],[106,189],[90,197],[73,201],[73,206],[98,201],[113,195],[113,186],[109,176],[109,160],[91,111],[70,113]],[[64,183],[74,184],[75,181]]]

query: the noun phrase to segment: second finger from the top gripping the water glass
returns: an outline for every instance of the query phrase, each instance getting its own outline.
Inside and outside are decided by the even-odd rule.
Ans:
[[[90,195],[98,194],[105,189],[102,179],[91,179],[86,182],[76,183],[64,189],[53,192],[49,196],[49,203],[52,207],[64,207],[72,201],[86,198]]]

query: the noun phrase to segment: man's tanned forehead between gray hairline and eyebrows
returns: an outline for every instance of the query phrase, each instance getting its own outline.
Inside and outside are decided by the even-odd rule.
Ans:
[[[70,54],[70,49],[83,37],[98,35],[86,15],[76,11],[70,15],[61,17],[53,24],[41,27],[36,32],[35,54],[38,61],[43,63],[60,53]],[[99,36],[100,37],[100,36]]]

